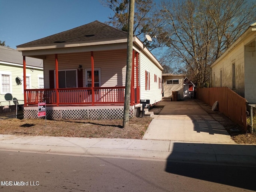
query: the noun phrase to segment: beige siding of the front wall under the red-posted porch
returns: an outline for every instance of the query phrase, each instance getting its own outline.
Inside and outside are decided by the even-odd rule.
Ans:
[[[102,87],[125,86],[126,50],[94,51],[94,69],[100,69]],[[83,69],[83,87],[86,87],[86,69],[91,69],[91,53],[58,54],[58,70]],[[49,70],[55,70],[55,56],[44,60],[44,87],[49,88]]]

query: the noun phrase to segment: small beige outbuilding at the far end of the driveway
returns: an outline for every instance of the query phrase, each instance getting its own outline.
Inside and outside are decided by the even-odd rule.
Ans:
[[[162,74],[163,97],[171,98],[173,101],[183,99],[183,82],[185,77],[185,74]]]

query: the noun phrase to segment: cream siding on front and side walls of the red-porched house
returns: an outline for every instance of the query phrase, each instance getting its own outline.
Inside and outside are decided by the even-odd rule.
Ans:
[[[100,84],[102,87],[125,86],[126,79],[126,49],[110,51],[94,51],[94,69],[100,69]],[[91,52],[58,54],[58,70],[68,70],[82,66],[83,87],[86,87],[86,69],[91,69]],[[160,70],[150,59],[140,53],[140,98],[150,99],[154,104],[162,100],[162,90],[154,83],[154,74],[162,77]],[[48,55],[44,60],[44,88],[49,88],[49,70],[55,70],[55,56]],[[150,90],[145,90],[145,71],[150,72]],[[153,75],[152,75],[153,74]],[[136,76],[136,73],[134,73]],[[135,78],[136,84],[136,78]]]

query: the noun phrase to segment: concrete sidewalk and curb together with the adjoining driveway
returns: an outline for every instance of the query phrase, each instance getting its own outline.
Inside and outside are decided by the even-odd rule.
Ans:
[[[160,105],[142,140],[0,135],[0,150],[256,167],[256,146],[234,143],[222,114],[195,100]]]

